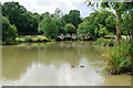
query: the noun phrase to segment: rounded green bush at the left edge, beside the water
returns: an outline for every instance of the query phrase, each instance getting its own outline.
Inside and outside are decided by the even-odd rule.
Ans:
[[[17,28],[11,25],[7,18],[2,16],[2,44],[17,44]]]

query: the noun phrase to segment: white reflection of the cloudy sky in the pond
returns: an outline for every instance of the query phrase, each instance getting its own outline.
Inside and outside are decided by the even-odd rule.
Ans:
[[[88,61],[81,59],[84,68],[75,66],[71,68],[69,63],[62,63],[59,68],[53,64],[47,66],[41,63],[32,63],[27,73],[18,81],[4,81],[3,85],[24,86],[100,86],[104,78],[94,70]]]

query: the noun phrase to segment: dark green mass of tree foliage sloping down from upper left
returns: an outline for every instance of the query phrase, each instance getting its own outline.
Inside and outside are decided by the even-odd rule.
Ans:
[[[14,24],[18,29],[18,33],[32,33],[38,32],[38,23],[40,15],[38,13],[31,13],[27,11],[19,2],[6,2],[2,6],[2,15],[10,20],[11,24]]]

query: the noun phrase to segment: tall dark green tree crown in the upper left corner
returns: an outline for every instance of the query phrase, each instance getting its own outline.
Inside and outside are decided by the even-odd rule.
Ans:
[[[2,6],[2,15],[7,16],[11,24],[19,22],[21,13],[24,12],[27,12],[25,8],[20,6],[19,2],[6,2]]]

